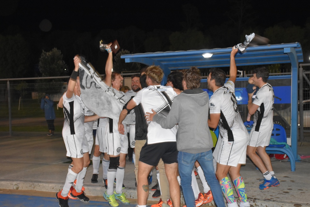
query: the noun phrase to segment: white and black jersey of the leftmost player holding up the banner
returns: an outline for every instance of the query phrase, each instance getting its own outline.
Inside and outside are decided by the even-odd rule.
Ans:
[[[73,94],[71,99],[63,95],[64,105],[64,127],[62,135],[85,134],[84,111],[85,105],[79,96]]]

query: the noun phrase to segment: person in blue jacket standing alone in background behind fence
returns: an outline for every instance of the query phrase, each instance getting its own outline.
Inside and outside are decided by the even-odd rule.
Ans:
[[[55,115],[53,104],[54,102],[50,100],[49,95],[45,95],[45,98],[41,99],[41,109],[44,109],[48,130],[50,130],[50,133],[47,134],[47,136],[54,135],[54,131],[55,131],[54,119],[56,118],[56,115]]]

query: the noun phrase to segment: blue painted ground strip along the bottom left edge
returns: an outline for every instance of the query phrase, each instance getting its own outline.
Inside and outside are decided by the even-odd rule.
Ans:
[[[55,193],[56,194],[56,193]],[[108,202],[89,201],[84,203],[80,200],[69,199],[70,207],[108,207]],[[39,197],[39,196],[24,196],[24,195],[11,195],[11,194],[0,194],[0,206],[1,207],[55,207],[58,205],[58,200],[50,197]],[[135,207],[136,205],[124,205],[119,204],[119,207]]]

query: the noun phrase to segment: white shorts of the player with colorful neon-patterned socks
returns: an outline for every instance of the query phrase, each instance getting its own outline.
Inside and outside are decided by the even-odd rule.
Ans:
[[[228,142],[228,139],[219,136],[213,156],[219,164],[237,167],[246,163],[246,147],[248,136]]]

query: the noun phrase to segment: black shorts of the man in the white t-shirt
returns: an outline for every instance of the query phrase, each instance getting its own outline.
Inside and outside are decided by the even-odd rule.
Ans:
[[[178,163],[176,142],[145,143],[141,149],[139,161],[156,166],[160,158],[165,164]]]

